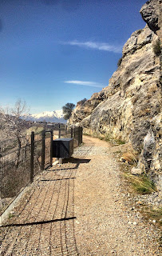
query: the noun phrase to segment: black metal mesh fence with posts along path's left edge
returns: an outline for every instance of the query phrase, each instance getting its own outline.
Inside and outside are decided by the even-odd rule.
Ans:
[[[53,128],[53,127],[51,127]],[[53,130],[31,132],[0,142],[0,214],[14,200],[23,187],[34,181],[34,176],[52,166],[54,138],[74,138],[74,147],[82,143],[82,128],[55,126]]]

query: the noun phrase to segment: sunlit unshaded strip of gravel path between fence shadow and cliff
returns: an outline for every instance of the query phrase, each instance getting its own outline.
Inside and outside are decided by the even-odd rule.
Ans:
[[[75,231],[81,255],[152,256],[158,232],[144,222],[140,212],[127,204],[119,162],[108,142],[85,136],[77,158],[89,148],[89,163],[77,170],[75,183]],[[126,189],[126,190],[125,190]]]

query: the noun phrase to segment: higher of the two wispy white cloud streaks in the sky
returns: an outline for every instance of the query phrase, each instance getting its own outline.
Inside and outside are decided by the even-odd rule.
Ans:
[[[107,42],[78,42],[78,41],[69,41],[65,42],[65,44],[68,44],[70,46],[80,46],[85,47],[87,49],[96,49],[96,50],[106,50],[111,51],[114,53],[121,53],[122,52],[122,46],[112,46]]]

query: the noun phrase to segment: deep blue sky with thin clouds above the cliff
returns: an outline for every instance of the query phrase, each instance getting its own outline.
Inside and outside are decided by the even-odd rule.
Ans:
[[[61,110],[108,86],[144,2],[0,0],[0,106]]]

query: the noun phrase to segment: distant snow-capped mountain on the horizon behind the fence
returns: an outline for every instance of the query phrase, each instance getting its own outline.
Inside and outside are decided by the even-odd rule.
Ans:
[[[22,118],[26,121],[36,122],[61,122],[66,123],[62,110],[44,111],[39,114],[26,114]]]

